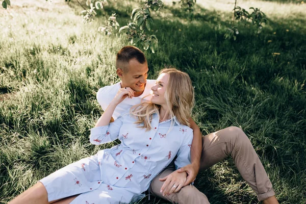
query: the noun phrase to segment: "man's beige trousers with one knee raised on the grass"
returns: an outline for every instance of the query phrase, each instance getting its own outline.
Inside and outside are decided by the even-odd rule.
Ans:
[[[204,136],[202,143],[200,170],[208,169],[227,156],[231,156],[243,179],[254,190],[259,200],[264,200],[275,194],[250,140],[239,127],[227,127]],[[167,199],[172,203],[209,203],[206,195],[192,185],[185,186],[179,192],[163,197],[160,189],[164,182],[160,182],[158,179],[174,170],[173,167],[169,167],[155,177],[150,185],[150,192],[153,195]]]

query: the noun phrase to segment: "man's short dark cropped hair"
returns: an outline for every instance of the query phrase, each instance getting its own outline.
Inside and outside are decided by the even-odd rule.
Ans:
[[[130,60],[136,59],[140,64],[146,62],[143,52],[135,46],[124,46],[117,53],[116,57],[116,67],[120,68],[124,72],[127,72],[127,65]]]

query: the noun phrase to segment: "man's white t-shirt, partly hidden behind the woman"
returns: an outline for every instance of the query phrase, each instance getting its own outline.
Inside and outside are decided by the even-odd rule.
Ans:
[[[121,115],[121,113],[130,110],[132,106],[140,104],[141,100],[151,100],[152,95],[150,94],[150,91],[152,86],[155,85],[155,82],[156,80],[146,80],[144,91],[140,96],[133,98],[128,98],[128,97],[124,98],[124,100],[116,107],[113,113],[113,118],[116,119],[117,117],[119,117],[119,115]],[[98,90],[97,100],[104,111],[107,109],[111,101],[114,99],[120,88],[121,88],[121,82],[118,82],[117,84],[105,86]]]

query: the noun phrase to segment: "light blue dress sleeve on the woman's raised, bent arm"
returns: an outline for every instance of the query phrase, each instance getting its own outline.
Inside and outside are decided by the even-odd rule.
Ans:
[[[120,115],[109,125],[93,127],[90,129],[90,143],[98,145],[116,140],[125,116],[126,113]]]

